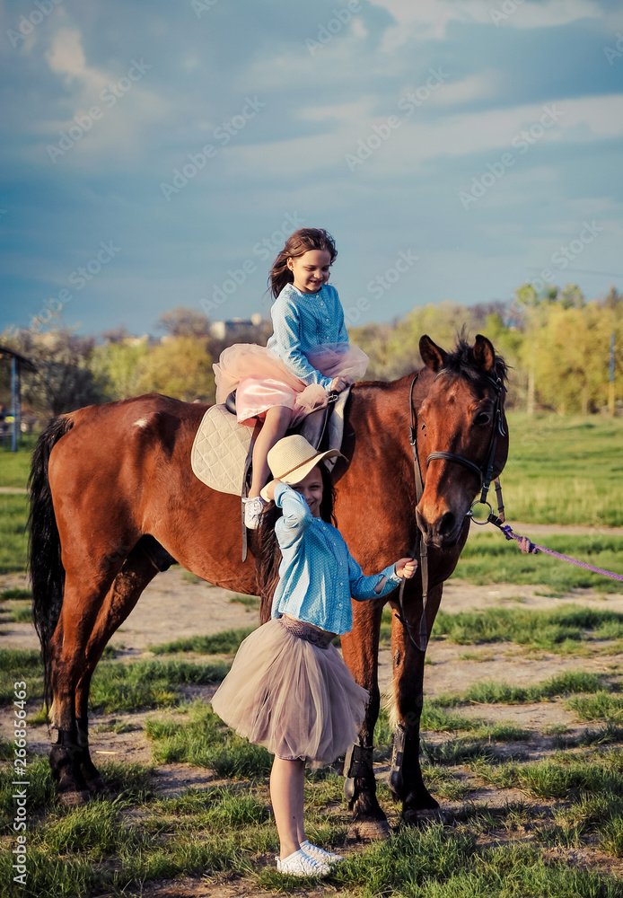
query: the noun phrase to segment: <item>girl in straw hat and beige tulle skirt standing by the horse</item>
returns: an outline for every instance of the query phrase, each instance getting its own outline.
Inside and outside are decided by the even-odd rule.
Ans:
[[[339,454],[319,453],[300,435],[285,436],[268,453],[275,480],[262,489],[270,503],[261,524],[263,594],[276,579],[276,543],[282,555],[271,620],[241,643],[212,700],[228,726],[275,755],[276,866],[294,876],[326,876],[342,859],[306,839],[304,768],[305,762],[326,766],[347,751],[368,702],[331,640],[353,627],[351,595],[380,598],[417,567],[413,559],[399,559],[364,577],[331,524],[334,489],[322,462]]]

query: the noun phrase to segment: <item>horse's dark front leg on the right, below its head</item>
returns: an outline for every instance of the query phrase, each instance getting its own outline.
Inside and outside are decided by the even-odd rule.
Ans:
[[[430,636],[439,609],[443,584],[434,586],[426,603],[426,629]],[[407,617],[412,632],[417,634],[422,611],[421,599],[409,596]],[[396,801],[402,801],[402,820],[417,825],[440,818],[439,805],[430,794],[420,768],[419,726],[423,705],[424,662],[426,654],[419,651],[408,637],[408,631],[396,614],[391,626],[391,654],[393,658],[392,723],[394,736],[391,753],[390,788]]]

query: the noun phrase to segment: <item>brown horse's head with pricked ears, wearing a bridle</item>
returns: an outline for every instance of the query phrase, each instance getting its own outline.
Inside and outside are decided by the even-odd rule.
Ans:
[[[424,480],[417,525],[426,543],[444,548],[459,539],[487,470],[496,477],[505,466],[506,365],[480,334],[473,346],[461,337],[452,353],[426,336],[419,349],[426,365],[419,379],[428,391],[417,408]]]

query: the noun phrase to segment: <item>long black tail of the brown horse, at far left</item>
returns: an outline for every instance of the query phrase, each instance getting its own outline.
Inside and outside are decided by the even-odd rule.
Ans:
[[[60,616],[65,587],[60,537],[49,489],[48,461],[53,447],[72,427],[74,422],[66,415],[49,422],[32,453],[31,476],[28,480],[31,494],[29,559],[32,618],[41,644],[44,701],[47,708],[52,697],[48,646]]]

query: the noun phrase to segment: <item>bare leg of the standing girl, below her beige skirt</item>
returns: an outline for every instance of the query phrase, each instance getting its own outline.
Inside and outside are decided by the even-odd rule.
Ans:
[[[270,800],[279,835],[280,856],[289,858],[305,839],[303,787],[305,762],[285,761],[275,755],[270,771]]]

